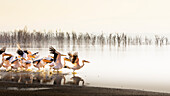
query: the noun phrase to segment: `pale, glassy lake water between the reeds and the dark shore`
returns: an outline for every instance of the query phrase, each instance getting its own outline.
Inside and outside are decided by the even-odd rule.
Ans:
[[[72,70],[63,69],[63,74],[59,76],[60,78],[65,78],[66,84],[72,84],[71,82],[73,82],[74,79],[71,78],[75,77],[83,80],[86,86],[139,89],[170,93],[170,46],[168,45],[161,47],[147,45],[131,45],[126,47],[109,45],[58,47],[54,45],[53,47],[62,54],[67,54],[67,52],[70,51],[78,52],[80,61],[90,61],[90,63],[85,64],[82,69],[77,70],[75,76],[71,73]],[[41,57],[50,54],[48,48],[27,49],[32,52],[38,51]],[[17,48],[7,48],[7,52],[12,54],[16,54],[16,50]],[[80,64],[82,63],[80,62]],[[10,74],[15,77],[16,74],[19,73]],[[28,77],[29,79],[35,79],[37,74],[38,73],[32,73],[32,77]],[[54,81],[58,78],[57,76],[56,74],[52,75],[50,78],[53,79],[53,81],[48,83],[54,84]],[[48,77],[48,75],[45,77]],[[4,77],[1,76],[2,81],[3,78]],[[80,86],[83,81],[80,81]],[[62,82],[64,82],[64,79],[62,79]],[[41,80],[41,83],[43,84],[43,80]],[[63,85],[63,83],[61,85]]]

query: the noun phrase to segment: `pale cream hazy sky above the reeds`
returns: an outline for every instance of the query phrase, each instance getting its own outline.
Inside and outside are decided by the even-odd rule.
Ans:
[[[170,32],[170,0],[0,0],[0,30]]]

